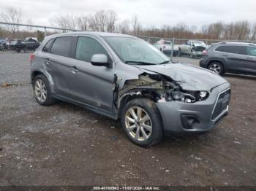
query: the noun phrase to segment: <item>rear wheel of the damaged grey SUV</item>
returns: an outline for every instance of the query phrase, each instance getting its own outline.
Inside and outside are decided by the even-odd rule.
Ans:
[[[50,106],[55,103],[52,97],[47,77],[42,74],[37,75],[33,80],[34,98],[42,106]]]

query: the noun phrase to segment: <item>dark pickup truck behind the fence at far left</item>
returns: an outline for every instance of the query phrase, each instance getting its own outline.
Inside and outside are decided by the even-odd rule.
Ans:
[[[17,52],[29,52],[35,51],[37,47],[39,47],[40,43],[37,42],[35,39],[28,39],[28,40],[15,40],[12,41],[10,44],[10,49],[15,50]]]

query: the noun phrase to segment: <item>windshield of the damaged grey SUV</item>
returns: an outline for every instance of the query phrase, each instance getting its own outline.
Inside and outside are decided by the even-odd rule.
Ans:
[[[170,61],[148,42],[132,37],[105,37],[118,57],[127,64],[160,64]]]

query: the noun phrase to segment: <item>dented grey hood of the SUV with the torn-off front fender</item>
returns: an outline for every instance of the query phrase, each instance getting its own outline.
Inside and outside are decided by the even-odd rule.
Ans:
[[[170,77],[178,83],[184,90],[204,90],[210,91],[214,87],[227,82],[214,72],[201,69],[191,64],[171,63],[165,65],[135,66],[143,71],[153,71]]]

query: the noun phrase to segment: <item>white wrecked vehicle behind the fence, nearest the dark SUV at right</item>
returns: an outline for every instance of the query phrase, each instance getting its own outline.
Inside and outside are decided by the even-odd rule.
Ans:
[[[189,40],[187,44],[179,45],[179,50],[181,55],[189,55],[191,58],[196,58],[202,55],[206,47],[206,44],[202,41]]]

